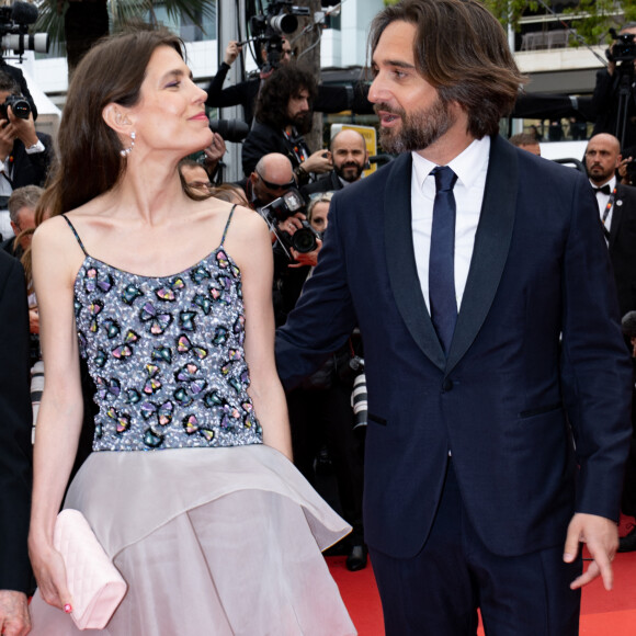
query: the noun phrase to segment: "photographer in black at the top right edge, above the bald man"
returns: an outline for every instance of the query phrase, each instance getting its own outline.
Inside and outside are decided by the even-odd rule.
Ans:
[[[606,69],[597,72],[592,95],[592,113],[595,115],[592,136],[599,133],[614,135],[623,148],[636,145],[636,95],[634,68],[636,61],[636,22],[625,24],[615,42],[605,53]],[[616,59],[616,54],[618,59]],[[617,64],[620,63],[620,64]],[[621,103],[621,94],[624,101]],[[624,125],[624,134],[623,134]]]

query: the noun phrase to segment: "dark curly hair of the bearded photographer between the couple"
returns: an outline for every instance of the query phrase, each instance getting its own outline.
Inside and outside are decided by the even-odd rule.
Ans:
[[[314,104],[318,87],[314,76],[298,65],[279,67],[263,83],[257,100],[254,116],[257,122],[272,128],[284,128],[288,123],[289,99],[302,90],[309,93],[309,106]]]

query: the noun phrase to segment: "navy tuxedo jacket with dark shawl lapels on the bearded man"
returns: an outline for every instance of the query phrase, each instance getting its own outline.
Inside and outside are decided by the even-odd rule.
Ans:
[[[416,269],[411,162],[334,195],[318,266],[276,338],[279,372],[293,385],[360,325],[370,546],[421,549],[448,451],[490,550],[563,545],[575,511],[617,516],[631,436],[631,364],[594,196],[578,171],[492,138],[446,359]]]

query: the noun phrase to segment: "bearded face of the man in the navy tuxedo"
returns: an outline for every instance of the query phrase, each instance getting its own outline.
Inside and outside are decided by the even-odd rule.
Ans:
[[[373,53],[368,100],[375,103],[382,147],[388,152],[423,150],[457,124],[458,106],[444,103],[416,68],[414,37],[413,24],[391,22]]]

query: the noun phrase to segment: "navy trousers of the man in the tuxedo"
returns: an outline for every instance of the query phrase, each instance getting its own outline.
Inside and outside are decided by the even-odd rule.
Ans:
[[[565,543],[565,537],[564,537]],[[515,557],[492,554],[466,515],[452,461],[422,550],[396,559],[371,548],[386,636],[576,636],[582,560],[564,564],[563,545]]]

